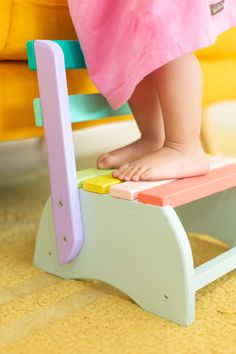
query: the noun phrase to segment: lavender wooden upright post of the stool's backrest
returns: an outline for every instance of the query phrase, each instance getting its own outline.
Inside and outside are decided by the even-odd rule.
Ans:
[[[39,91],[47,139],[58,259],[72,261],[83,243],[64,56],[52,41],[35,41]]]

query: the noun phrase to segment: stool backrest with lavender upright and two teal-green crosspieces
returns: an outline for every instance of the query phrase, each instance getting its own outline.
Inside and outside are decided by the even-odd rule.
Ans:
[[[66,69],[85,68],[78,41],[27,43],[29,67],[37,70],[37,125],[44,125],[58,259],[72,261],[83,244],[82,216],[71,122],[131,114],[128,104],[112,110],[100,94],[68,95]]]

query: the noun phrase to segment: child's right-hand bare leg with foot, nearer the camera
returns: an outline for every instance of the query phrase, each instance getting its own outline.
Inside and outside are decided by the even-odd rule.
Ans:
[[[156,70],[165,125],[162,149],[113,173],[124,180],[182,178],[207,172],[208,160],[200,143],[202,73],[194,54]]]

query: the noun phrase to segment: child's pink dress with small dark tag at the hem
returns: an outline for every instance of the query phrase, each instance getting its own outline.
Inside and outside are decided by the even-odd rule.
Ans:
[[[149,73],[236,25],[236,0],[68,0],[91,79],[113,109]]]

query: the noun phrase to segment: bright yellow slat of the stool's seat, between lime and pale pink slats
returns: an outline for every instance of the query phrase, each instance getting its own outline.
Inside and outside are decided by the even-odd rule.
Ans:
[[[91,178],[83,183],[83,189],[87,192],[93,192],[98,194],[109,193],[110,187],[114,184],[121,183],[117,178],[112,177],[112,174]]]

